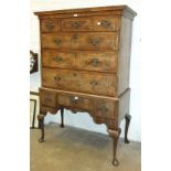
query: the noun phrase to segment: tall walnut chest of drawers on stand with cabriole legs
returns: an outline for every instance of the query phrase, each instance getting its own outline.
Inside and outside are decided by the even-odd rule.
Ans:
[[[105,124],[114,140],[113,164],[126,119],[129,115],[129,65],[132,20],[127,6],[35,12],[40,19],[41,81],[40,128],[44,141],[47,111],[64,108],[87,111],[96,124]]]

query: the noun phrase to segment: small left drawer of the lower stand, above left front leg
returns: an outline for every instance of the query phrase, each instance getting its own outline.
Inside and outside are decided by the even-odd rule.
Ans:
[[[41,104],[44,106],[56,107],[56,94],[47,90],[41,90]]]

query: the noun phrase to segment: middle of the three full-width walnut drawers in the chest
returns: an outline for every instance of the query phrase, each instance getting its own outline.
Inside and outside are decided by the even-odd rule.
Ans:
[[[45,67],[73,68],[97,72],[116,72],[116,52],[58,52],[42,50],[42,62]]]

